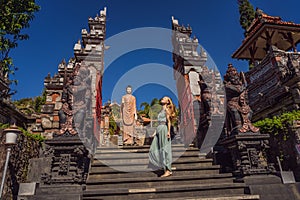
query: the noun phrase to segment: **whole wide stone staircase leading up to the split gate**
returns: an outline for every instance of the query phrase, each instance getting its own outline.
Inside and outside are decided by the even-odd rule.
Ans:
[[[173,145],[173,175],[148,168],[149,146],[98,148],[83,199],[259,199],[196,148]]]

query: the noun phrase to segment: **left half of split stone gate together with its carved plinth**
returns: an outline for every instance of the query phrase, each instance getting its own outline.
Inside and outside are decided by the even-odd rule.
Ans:
[[[100,131],[106,8],[90,17],[88,26],[74,45],[74,57],[62,61],[58,73],[44,80],[47,99],[33,132],[46,137],[46,147],[42,158],[31,161],[31,169],[41,169],[29,177],[31,182],[80,185],[86,181]]]

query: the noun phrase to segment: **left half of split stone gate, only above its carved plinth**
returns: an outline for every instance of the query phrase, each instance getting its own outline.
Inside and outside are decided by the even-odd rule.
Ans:
[[[74,57],[59,64],[58,74],[45,78],[46,104],[33,131],[46,138],[97,132],[102,104],[106,9],[100,16],[90,17],[88,25],[89,32],[82,29],[82,40],[74,45]]]

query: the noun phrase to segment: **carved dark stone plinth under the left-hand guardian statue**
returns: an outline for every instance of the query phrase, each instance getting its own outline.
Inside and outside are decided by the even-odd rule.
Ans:
[[[45,143],[44,155],[45,160],[50,159],[50,169],[41,174],[41,183],[85,184],[90,158],[78,135],[54,137]]]

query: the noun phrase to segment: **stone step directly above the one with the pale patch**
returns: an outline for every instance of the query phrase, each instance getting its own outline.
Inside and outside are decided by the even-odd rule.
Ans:
[[[200,175],[191,176],[183,175],[177,176],[174,173],[170,177],[128,177],[119,179],[89,179],[87,188],[89,190],[104,188],[146,188],[146,187],[159,187],[165,185],[194,185],[194,184],[209,184],[209,183],[233,183],[231,174],[214,174],[214,175]]]

